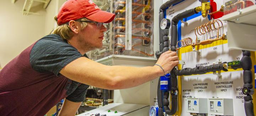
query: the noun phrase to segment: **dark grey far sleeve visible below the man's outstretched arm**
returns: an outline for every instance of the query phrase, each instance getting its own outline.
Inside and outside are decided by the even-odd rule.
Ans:
[[[73,93],[66,97],[66,99],[68,99],[71,102],[83,102],[85,100],[85,95],[88,87],[89,85],[81,83]]]

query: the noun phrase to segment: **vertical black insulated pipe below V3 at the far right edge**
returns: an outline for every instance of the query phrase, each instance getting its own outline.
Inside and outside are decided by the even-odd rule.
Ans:
[[[245,103],[245,114],[246,116],[255,116],[254,115],[254,106],[252,103],[251,95],[254,94],[254,88],[252,85],[252,61],[250,51],[242,51],[243,57],[241,59],[241,67],[244,70],[244,88],[242,90],[243,94],[247,95],[244,97]]]

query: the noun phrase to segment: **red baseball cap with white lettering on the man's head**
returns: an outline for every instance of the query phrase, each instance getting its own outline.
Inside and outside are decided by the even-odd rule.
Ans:
[[[83,17],[96,22],[110,23],[115,14],[102,11],[92,0],[68,0],[60,7],[57,23],[61,25]]]

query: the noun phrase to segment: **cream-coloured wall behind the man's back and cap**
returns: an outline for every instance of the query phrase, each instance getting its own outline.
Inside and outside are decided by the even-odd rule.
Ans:
[[[36,6],[39,15],[23,16],[25,0],[2,0],[0,7],[0,69],[32,43],[48,35],[57,26],[53,17],[66,0],[51,0],[47,9]],[[33,10],[31,8],[31,10]]]

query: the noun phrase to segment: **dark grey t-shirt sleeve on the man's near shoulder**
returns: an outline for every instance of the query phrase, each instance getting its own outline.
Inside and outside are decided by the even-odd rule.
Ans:
[[[46,38],[48,37],[48,38]],[[30,52],[30,63],[39,72],[50,71],[59,76],[59,71],[73,60],[84,57],[73,46],[55,36],[38,40]]]

